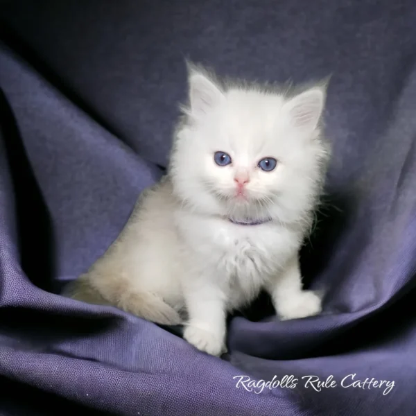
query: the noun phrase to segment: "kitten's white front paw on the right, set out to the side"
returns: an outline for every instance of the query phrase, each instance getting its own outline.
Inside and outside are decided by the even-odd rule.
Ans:
[[[312,291],[299,292],[290,295],[285,302],[277,305],[277,313],[281,320],[306,318],[318,315],[322,311],[322,301]]]

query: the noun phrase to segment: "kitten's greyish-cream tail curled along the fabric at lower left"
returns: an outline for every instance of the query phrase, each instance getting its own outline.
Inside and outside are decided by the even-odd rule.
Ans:
[[[105,281],[105,279],[101,279]],[[104,294],[104,293],[105,294]],[[182,323],[179,313],[154,293],[130,291],[122,280],[105,282],[105,291],[92,284],[89,275],[81,275],[65,288],[64,295],[90,304],[116,306],[125,312],[162,325]]]

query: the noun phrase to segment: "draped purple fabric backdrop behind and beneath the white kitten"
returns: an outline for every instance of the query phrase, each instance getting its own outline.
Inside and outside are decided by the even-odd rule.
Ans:
[[[415,415],[413,0],[0,1],[0,413]],[[302,251],[324,313],[270,302],[229,323],[229,355],[60,296],[166,165],[184,58],[220,75],[332,74],[327,197]],[[343,388],[340,381],[395,381]],[[236,388],[233,376],[337,386]]]

